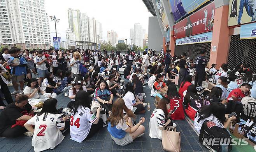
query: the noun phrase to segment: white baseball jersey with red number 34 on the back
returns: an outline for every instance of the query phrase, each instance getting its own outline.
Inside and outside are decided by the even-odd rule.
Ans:
[[[91,109],[80,106],[70,116],[70,139],[81,143],[89,134],[91,125],[95,120],[97,120],[97,117]]]

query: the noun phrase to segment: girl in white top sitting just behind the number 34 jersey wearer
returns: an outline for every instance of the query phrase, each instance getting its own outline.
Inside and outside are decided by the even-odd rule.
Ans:
[[[68,91],[68,97],[69,97],[69,99],[71,99],[71,101],[68,103],[68,108],[72,108],[72,106],[75,102],[76,93],[78,91],[83,90],[83,91],[87,92],[86,87],[82,86],[81,81],[78,81],[76,83],[74,81],[72,81],[72,83],[73,83],[73,87],[70,88],[69,91]]]

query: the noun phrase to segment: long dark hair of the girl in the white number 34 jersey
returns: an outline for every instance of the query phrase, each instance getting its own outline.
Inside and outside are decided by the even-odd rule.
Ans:
[[[78,91],[76,96],[75,96],[74,105],[72,107],[73,116],[76,114],[75,112],[77,111],[77,109],[80,106],[91,108],[90,103],[91,103],[91,101],[89,100],[88,93],[86,91],[83,91],[83,90]]]

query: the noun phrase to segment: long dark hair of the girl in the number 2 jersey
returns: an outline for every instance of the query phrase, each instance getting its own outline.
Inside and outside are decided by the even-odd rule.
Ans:
[[[44,113],[44,118],[43,118],[44,120],[48,113],[57,114],[58,113],[58,110],[56,108],[57,102],[58,101],[55,98],[47,99],[46,101],[44,101],[43,108],[40,111],[40,113],[37,114],[37,116],[41,116]]]

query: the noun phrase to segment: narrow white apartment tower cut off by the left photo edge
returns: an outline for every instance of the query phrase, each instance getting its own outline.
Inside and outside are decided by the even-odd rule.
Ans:
[[[0,44],[11,47],[14,43],[7,0],[1,0],[0,2]]]

